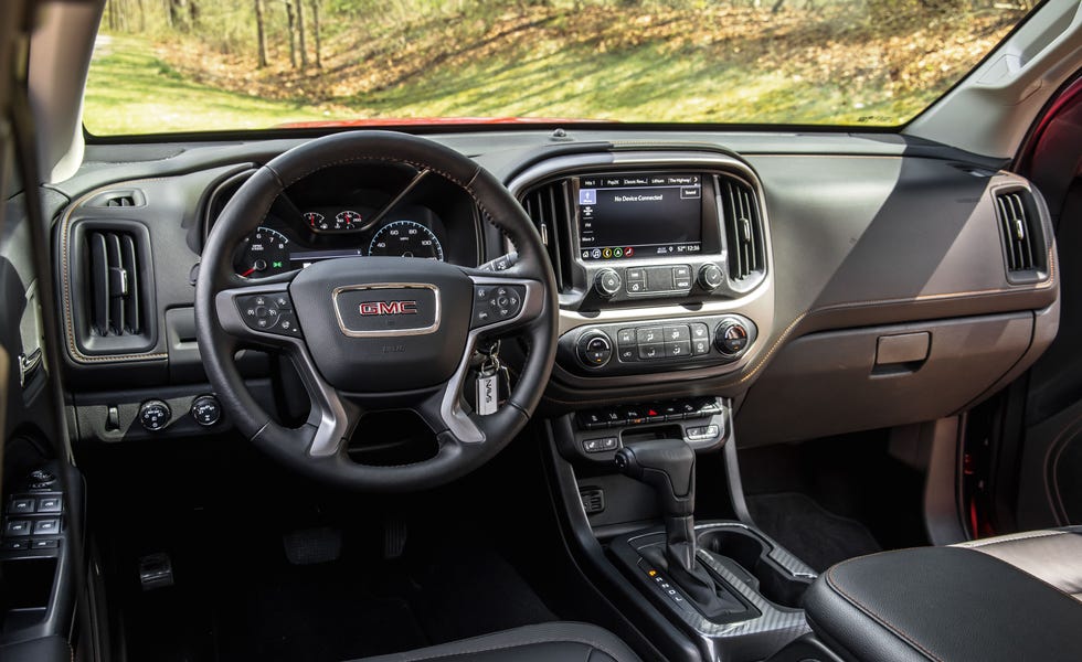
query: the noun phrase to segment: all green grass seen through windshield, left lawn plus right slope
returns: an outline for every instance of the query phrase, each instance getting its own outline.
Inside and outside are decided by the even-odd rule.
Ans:
[[[109,39],[109,38],[107,38]],[[329,99],[337,110],[264,99],[188,81],[135,38],[95,54],[84,111],[96,135],[254,129],[348,117],[528,116],[620,121],[900,124],[936,93],[876,98],[845,82],[811,85],[773,71],[711,63],[692,50],[643,44],[618,52],[538,47],[529,55],[423,76],[363,96]],[[881,93],[880,93],[881,94]]]

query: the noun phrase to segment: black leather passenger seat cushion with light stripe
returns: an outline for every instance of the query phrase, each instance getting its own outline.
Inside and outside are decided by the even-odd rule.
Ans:
[[[841,562],[805,596],[816,637],[858,662],[1082,659],[1082,527]]]

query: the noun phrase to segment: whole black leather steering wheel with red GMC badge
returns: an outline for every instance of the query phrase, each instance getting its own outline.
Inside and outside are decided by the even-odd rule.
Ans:
[[[468,193],[515,245],[518,260],[481,271],[428,259],[352,257],[258,280],[234,274],[240,242],[277,195],[321,169],[409,166]],[[206,375],[225,413],[257,447],[318,480],[369,491],[435,487],[476,469],[526,426],[556,350],[556,290],[541,238],[510,192],[469,158],[391,131],[319,138],[259,168],[230,200],[206,239],[195,286],[195,324]],[[529,350],[506,403],[487,416],[463,403],[482,341],[520,335]],[[246,346],[287,355],[311,401],[307,421],[276,423],[235,363]],[[438,449],[403,466],[354,462],[350,437],[367,412],[410,409]]]

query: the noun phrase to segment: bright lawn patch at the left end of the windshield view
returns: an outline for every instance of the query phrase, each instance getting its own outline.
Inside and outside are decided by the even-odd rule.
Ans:
[[[327,119],[311,106],[215,89],[184,79],[146,42],[110,38],[99,45],[86,82],[84,122],[91,134],[159,134],[266,128]]]

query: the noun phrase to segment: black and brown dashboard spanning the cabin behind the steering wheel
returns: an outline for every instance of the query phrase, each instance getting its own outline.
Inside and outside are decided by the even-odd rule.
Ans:
[[[1058,328],[1039,192],[946,147],[615,129],[437,139],[505,183],[548,250],[559,350],[541,415],[615,407],[620,418],[624,405],[720,396],[741,445],[932,420],[1011,381]],[[138,438],[124,421],[145,396],[187,407],[205,391],[201,247],[253,168],[301,142],[162,146],[140,159],[130,146],[92,146],[91,161],[117,166],[60,188],[57,281],[81,435]],[[1025,246],[1010,231],[1019,223]],[[458,186],[385,163],[301,179],[258,227],[232,264],[250,279],[346,256],[477,267],[515,250]],[[116,310],[97,306],[94,284],[114,263],[95,276],[95,245],[138,276]],[[505,343],[512,376],[523,351]],[[276,370],[257,355],[245,365],[253,383]],[[102,391],[120,374],[130,393]]]

